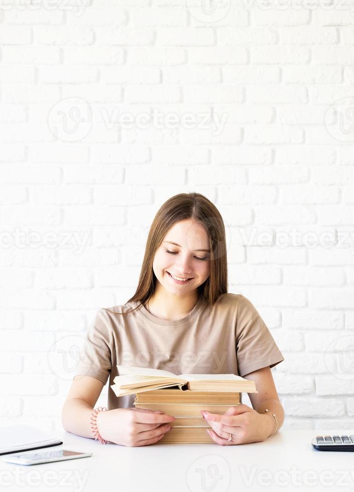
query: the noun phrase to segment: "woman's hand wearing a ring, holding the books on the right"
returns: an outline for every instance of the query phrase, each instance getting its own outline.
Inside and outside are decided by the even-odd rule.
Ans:
[[[265,441],[272,434],[270,416],[260,414],[248,405],[230,407],[223,415],[205,410],[201,414],[212,429],[207,429],[208,434],[221,446]],[[232,440],[228,441],[230,434]]]

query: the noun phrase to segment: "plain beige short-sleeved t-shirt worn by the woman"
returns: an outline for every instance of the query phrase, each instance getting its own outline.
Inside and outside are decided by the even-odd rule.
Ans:
[[[127,312],[130,302],[108,308]],[[104,385],[109,377],[108,410],[134,407],[135,395],[117,398],[111,389],[117,364],[153,367],[179,374],[245,376],[284,360],[254,305],[241,294],[222,294],[211,308],[199,298],[179,320],[160,319],[143,305],[122,316],[102,308],[89,326],[75,376]]]

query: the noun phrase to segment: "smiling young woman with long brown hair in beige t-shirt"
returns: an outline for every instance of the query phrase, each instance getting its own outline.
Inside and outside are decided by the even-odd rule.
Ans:
[[[136,409],[115,397],[117,365],[174,374],[238,374],[256,382],[253,408],[202,412],[220,445],[264,441],[284,412],[270,368],[284,360],[267,326],[244,296],[227,293],[225,229],[217,208],[198,193],[167,200],[151,225],[138,287],[124,305],[100,309],[90,325],[62,410],[65,430],[101,442],[158,442],[174,417]],[[108,410],[94,405],[109,377]],[[92,427],[91,427],[92,425]]]

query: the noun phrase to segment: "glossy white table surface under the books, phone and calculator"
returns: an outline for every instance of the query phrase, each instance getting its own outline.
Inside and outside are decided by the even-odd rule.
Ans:
[[[318,434],[349,431],[280,430],[265,442],[102,445],[69,432],[50,449],[90,451],[88,458],[33,466],[0,460],[0,489],[39,492],[226,492],[313,490],[354,492],[354,453],[316,451]]]

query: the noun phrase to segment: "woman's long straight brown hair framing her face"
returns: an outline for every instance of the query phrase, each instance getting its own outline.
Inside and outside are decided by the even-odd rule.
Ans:
[[[127,313],[138,309],[154,294],[156,276],[153,271],[155,253],[170,228],[181,220],[193,219],[202,224],[209,236],[210,274],[198,287],[199,299],[212,306],[218,297],[227,293],[227,258],[225,227],[220,212],[215,205],[200,193],[180,193],[169,198],[158,210],[151,224],[145,248],[139,283],[133,297],[127,301],[136,301],[136,306]],[[139,304],[140,303],[140,304]]]

